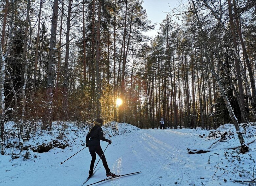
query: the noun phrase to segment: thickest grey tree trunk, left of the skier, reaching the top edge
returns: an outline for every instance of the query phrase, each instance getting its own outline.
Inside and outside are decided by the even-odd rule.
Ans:
[[[48,77],[46,88],[46,113],[43,122],[43,129],[51,130],[52,127],[52,105],[53,105],[53,87],[55,76],[55,47],[56,47],[56,32],[57,32],[57,20],[58,20],[58,0],[53,1],[53,13],[51,21],[51,37],[49,47],[49,63],[48,63]]]

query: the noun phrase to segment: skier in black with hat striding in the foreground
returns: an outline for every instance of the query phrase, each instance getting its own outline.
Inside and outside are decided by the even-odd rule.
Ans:
[[[112,143],[111,140],[106,139],[103,136],[103,131],[102,131],[102,125],[103,125],[103,120],[101,118],[97,118],[94,123],[93,127],[89,130],[87,136],[86,136],[86,146],[89,148],[89,152],[92,156],[92,161],[90,165],[90,170],[89,170],[89,177],[93,175],[93,168],[94,168],[94,163],[96,160],[96,153],[101,157],[103,166],[106,170],[106,175],[108,176],[115,176],[114,173],[110,172],[110,169],[108,168],[107,161],[105,158],[105,155],[103,154],[103,151],[100,147],[100,140],[108,142],[109,145]],[[90,141],[89,141],[90,139]]]

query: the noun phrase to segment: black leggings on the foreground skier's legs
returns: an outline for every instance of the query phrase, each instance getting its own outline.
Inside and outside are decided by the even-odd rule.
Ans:
[[[110,169],[108,168],[108,165],[107,165],[105,155],[103,154],[103,151],[102,151],[100,146],[89,146],[89,152],[92,156],[90,170],[93,170],[93,168],[94,168],[94,163],[95,163],[95,160],[96,160],[96,153],[97,153],[101,157],[101,160],[102,160],[102,163],[103,163],[103,166],[104,166],[106,172],[110,171]]]

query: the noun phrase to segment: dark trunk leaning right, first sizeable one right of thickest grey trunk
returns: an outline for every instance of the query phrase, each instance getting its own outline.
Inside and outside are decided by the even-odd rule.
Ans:
[[[67,121],[68,116],[68,75],[69,75],[69,35],[70,35],[70,18],[71,18],[71,6],[73,0],[69,0],[68,17],[67,17],[67,31],[66,31],[66,51],[65,51],[65,63],[63,72],[63,98],[62,98],[62,114],[63,120]]]

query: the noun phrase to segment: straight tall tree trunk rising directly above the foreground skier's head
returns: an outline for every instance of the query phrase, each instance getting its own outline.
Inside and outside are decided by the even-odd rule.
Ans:
[[[99,1],[98,20],[97,20],[97,35],[96,35],[96,83],[97,83],[97,117],[101,118],[100,96],[101,96],[101,82],[100,82],[100,11],[101,2]]]

